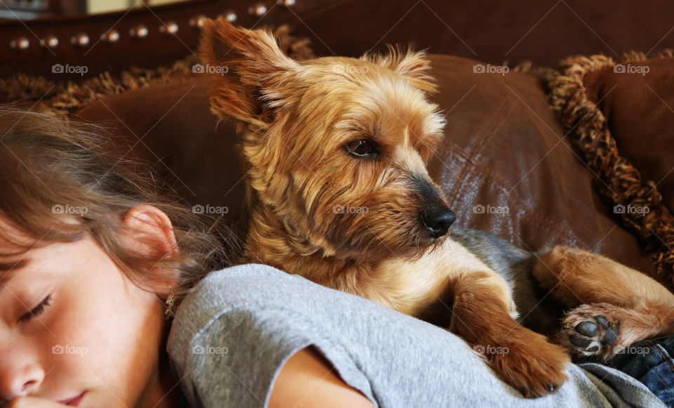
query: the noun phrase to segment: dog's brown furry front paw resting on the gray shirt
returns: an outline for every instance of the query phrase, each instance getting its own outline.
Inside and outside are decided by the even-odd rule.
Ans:
[[[510,339],[503,353],[487,356],[491,366],[524,397],[543,397],[557,392],[567,380],[564,369],[570,362],[569,355],[533,331],[513,337],[517,340]]]

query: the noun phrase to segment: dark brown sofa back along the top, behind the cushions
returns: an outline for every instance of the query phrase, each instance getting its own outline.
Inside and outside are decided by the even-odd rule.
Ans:
[[[412,43],[484,63],[531,60],[557,67],[569,55],[619,58],[628,51],[649,55],[674,48],[674,1],[192,0],[123,13],[0,20],[0,78],[15,72],[57,81],[82,78],[53,73],[57,63],[64,69],[86,66],[84,77],[154,68],[197,50],[200,15],[235,15],[235,24],[244,27],[291,25],[291,35],[310,39],[319,56],[358,56],[387,43]],[[171,27],[178,32],[170,34]],[[105,33],[117,41],[99,41]],[[39,45],[41,39],[56,39],[58,46],[50,51]]]

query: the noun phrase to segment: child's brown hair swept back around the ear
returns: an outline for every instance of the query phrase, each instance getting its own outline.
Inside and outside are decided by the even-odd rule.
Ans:
[[[37,245],[74,242],[90,234],[144,289],[141,278],[149,270],[176,269],[179,284],[171,289],[179,302],[206,273],[228,265],[227,249],[238,248],[234,235],[217,220],[197,216],[170,199],[147,164],[111,157],[108,143],[98,126],[0,108],[0,215]],[[140,204],[169,216],[178,254],[138,254],[124,245],[124,216]],[[6,232],[0,234],[15,242]]]

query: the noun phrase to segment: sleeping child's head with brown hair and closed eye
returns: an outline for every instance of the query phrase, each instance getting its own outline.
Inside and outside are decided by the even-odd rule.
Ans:
[[[226,262],[210,225],[92,130],[0,110],[0,400],[152,406],[166,298]]]

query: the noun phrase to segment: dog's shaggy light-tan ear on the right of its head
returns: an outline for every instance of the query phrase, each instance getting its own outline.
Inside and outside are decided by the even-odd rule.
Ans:
[[[426,58],[425,51],[413,51],[411,48],[405,50],[390,44],[387,47],[387,54],[366,53],[361,59],[404,75],[424,92],[437,93],[435,78],[428,74],[430,61]]]

